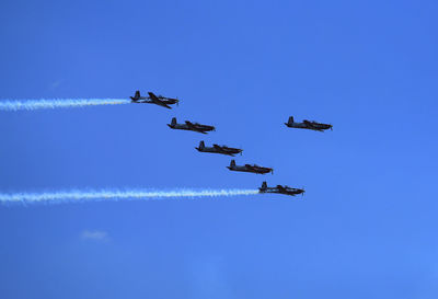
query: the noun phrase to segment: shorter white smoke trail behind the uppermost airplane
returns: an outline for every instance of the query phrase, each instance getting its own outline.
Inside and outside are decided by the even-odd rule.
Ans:
[[[33,111],[33,110],[54,110],[69,107],[84,107],[97,105],[122,105],[129,104],[129,100],[124,99],[53,99],[53,100],[2,100],[0,111]]]

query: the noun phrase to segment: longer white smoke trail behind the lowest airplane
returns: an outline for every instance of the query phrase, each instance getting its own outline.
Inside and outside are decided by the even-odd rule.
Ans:
[[[181,191],[69,191],[54,193],[12,193],[1,194],[0,203],[65,203],[118,199],[160,199],[160,198],[197,198],[254,195],[257,189],[181,189]]]

